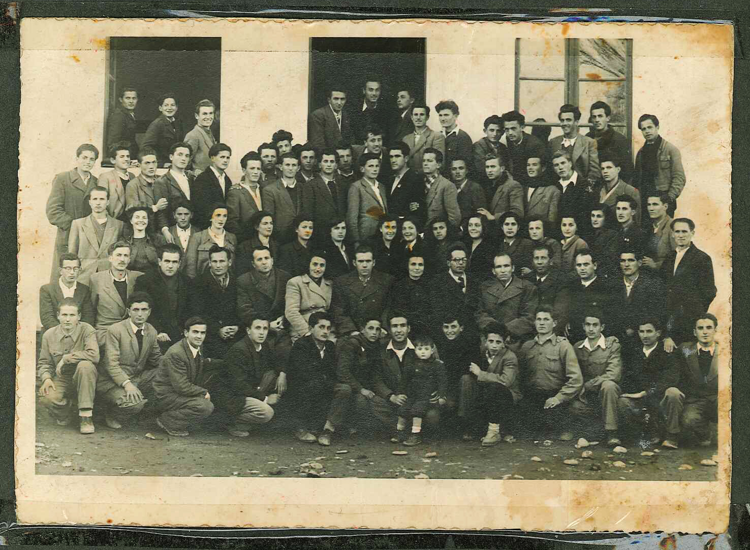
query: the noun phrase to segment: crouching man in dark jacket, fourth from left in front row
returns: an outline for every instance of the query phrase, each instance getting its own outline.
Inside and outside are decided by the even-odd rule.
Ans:
[[[224,418],[227,431],[238,438],[250,435],[248,427],[265,424],[274,416],[273,405],[279,393],[272,393],[276,371],[272,352],[266,344],[269,320],[255,316],[248,322],[245,337],[229,348],[226,369],[212,382],[217,414]]]

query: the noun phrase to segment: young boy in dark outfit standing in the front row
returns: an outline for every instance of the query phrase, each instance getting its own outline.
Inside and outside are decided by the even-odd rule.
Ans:
[[[414,340],[416,360],[413,364],[404,365],[404,372],[399,382],[398,394],[407,396],[407,401],[398,410],[396,435],[391,440],[404,442],[407,447],[422,443],[422,417],[429,408],[446,404],[446,367],[443,361],[434,359],[434,343],[430,336],[417,336]],[[404,439],[407,418],[412,419],[412,432]]]

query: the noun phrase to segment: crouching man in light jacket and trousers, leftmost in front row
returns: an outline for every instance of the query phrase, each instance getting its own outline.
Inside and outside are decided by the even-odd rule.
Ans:
[[[60,324],[42,336],[39,395],[58,426],[71,422],[71,404],[77,400],[80,431],[92,434],[99,346],[94,327],[80,319],[76,299],[63,298],[57,313]]]

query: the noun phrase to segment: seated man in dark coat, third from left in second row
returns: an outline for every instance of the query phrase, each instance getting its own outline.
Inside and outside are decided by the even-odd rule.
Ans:
[[[177,244],[165,244],[158,253],[158,268],[139,276],[136,291],[151,296],[151,326],[156,329],[161,351],[181,338],[184,321],[189,316],[187,297],[189,282],[180,271],[184,256]]]

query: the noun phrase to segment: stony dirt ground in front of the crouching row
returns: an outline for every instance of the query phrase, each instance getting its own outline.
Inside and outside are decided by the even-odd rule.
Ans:
[[[331,447],[321,447],[297,441],[275,420],[248,438],[208,429],[173,438],[157,428],[151,415],[118,431],[96,418],[96,433],[81,435],[77,425],[57,426],[37,407],[37,474],[679,481],[710,481],[716,475],[715,467],[700,465],[712,458],[715,447],[681,446],[641,456],[628,441],[627,452],[616,454],[604,442],[576,449],[576,441],[550,441],[546,446],[541,439],[520,438],[482,448],[478,441],[445,437],[404,447],[366,435],[342,436]],[[394,450],[407,454],[393,455]],[[581,458],[583,450],[591,450],[592,457]],[[428,453],[437,455],[425,456]],[[566,465],[565,459],[579,463]],[[625,467],[613,465],[617,461]],[[683,464],[692,469],[679,470]]]

